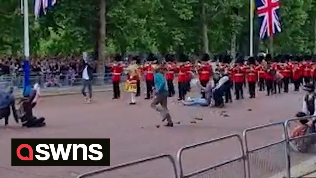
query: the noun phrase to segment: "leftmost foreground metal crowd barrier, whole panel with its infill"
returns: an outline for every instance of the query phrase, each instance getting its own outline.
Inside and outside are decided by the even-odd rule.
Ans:
[[[77,178],[86,178],[86,177],[94,178],[96,176],[99,176],[102,178],[119,178],[119,177],[124,177],[124,178],[139,178],[139,177],[166,178],[164,175],[159,175],[156,173],[157,172],[164,173],[167,170],[161,170],[158,167],[158,165],[155,165],[156,167],[153,167],[153,166],[146,167],[145,166],[146,164],[149,164],[151,162],[160,161],[163,159],[168,160],[168,162],[170,163],[169,165],[167,165],[166,162],[164,162],[163,166],[167,166],[168,168],[172,168],[171,177],[178,178],[175,161],[174,161],[173,157],[171,155],[168,155],[168,154],[161,154],[161,155],[157,155],[157,156],[152,156],[152,157],[136,160],[133,162],[119,164],[117,166],[113,166],[113,167],[109,167],[109,168],[98,169],[95,171],[84,173],[82,175],[78,175]],[[124,171],[126,169],[129,169],[129,168],[131,168],[133,166],[137,166],[137,165],[141,165],[144,169],[144,172],[140,172],[139,170],[133,170],[132,172],[128,172],[130,174],[128,174],[128,173],[126,173],[127,175],[125,174]],[[118,171],[117,174],[115,174],[115,175],[111,174],[114,171]],[[122,175],[122,173],[124,173],[125,175]],[[150,174],[150,173],[152,173],[152,174]],[[119,174],[121,174],[121,175],[119,175]]]

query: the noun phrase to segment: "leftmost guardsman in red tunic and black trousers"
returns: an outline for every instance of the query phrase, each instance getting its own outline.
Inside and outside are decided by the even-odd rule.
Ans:
[[[121,81],[121,73],[123,72],[123,66],[115,62],[111,66],[111,72],[114,93],[113,99],[118,99],[120,97],[119,82]]]

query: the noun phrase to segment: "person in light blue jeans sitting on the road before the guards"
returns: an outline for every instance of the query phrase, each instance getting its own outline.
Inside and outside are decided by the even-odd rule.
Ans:
[[[197,82],[199,84],[199,82]],[[212,95],[213,95],[213,88],[214,88],[214,81],[212,79],[206,84],[206,87],[200,85],[202,92],[205,93],[205,98],[197,97],[197,98],[190,98],[186,101],[182,101],[183,105],[192,106],[192,105],[200,105],[200,106],[209,106],[211,104]]]

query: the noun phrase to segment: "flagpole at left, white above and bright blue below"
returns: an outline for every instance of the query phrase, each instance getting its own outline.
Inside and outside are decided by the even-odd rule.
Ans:
[[[23,1],[24,9],[24,92],[30,90],[30,69],[29,69],[29,57],[30,57],[30,47],[29,47],[29,23],[28,23],[28,0]]]

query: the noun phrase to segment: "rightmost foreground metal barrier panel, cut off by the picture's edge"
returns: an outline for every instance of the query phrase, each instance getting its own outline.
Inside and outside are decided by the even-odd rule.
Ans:
[[[311,173],[316,172],[315,163],[311,158],[316,157],[316,133],[315,126],[307,126],[307,134],[298,137],[291,137],[289,132],[290,125],[296,124],[301,119],[307,119],[311,121],[313,117],[303,117],[289,119],[285,122],[286,130],[286,143],[287,143],[287,167],[288,167],[288,177],[303,177]],[[294,127],[292,127],[294,128]]]

